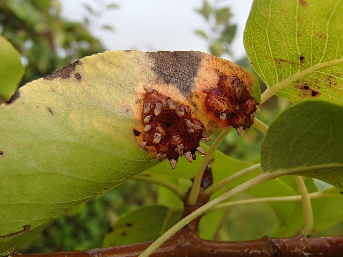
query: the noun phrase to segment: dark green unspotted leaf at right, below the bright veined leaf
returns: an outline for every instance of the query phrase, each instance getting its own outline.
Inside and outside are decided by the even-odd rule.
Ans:
[[[343,190],[342,135],[343,107],[313,100],[293,105],[274,120],[264,137],[262,169],[307,169],[296,174]]]

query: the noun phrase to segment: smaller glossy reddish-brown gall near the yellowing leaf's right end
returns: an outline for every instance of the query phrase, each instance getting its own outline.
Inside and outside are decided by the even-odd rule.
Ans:
[[[206,108],[214,115],[216,122],[233,126],[240,136],[249,129],[260,109],[247,87],[235,76],[220,75],[218,85],[207,90]]]

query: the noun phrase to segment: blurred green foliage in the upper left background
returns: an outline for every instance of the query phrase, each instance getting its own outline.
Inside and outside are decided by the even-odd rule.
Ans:
[[[0,1],[1,35],[26,66],[20,86],[105,50],[85,24],[64,20],[60,11],[58,0]]]

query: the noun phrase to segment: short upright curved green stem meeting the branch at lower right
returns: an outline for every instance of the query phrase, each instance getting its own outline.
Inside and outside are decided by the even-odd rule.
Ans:
[[[294,179],[298,185],[299,192],[301,195],[301,202],[303,203],[303,232],[302,233],[305,237],[310,237],[313,230],[313,212],[312,212],[310,196],[307,192],[307,188],[304,183],[303,177],[294,175]]]

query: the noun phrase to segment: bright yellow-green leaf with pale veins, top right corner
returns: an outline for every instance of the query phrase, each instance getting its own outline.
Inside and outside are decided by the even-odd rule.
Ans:
[[[244,45],[277,95],[343,103],[343,4],[339,0],[255,0]]]

